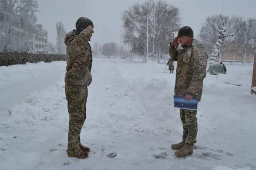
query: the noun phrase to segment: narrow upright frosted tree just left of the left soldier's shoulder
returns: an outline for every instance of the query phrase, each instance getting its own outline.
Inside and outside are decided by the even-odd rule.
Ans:
[[[65,31],[64,25],[61,21],[56,23],[57,37],[56,48],[58,54],[66,54],[66,45],[64,43],[67,31]]]

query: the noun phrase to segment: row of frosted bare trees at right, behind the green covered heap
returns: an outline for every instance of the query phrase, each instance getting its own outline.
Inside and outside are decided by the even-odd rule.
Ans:
[[[256,18],[248,20],[237,16],[214,15],[207,17],[200,30],[199,39],[211,54],[212,60],[222,60],[224,53],[232,53],[232,63],[237,55],[253,56],[256,49]]]

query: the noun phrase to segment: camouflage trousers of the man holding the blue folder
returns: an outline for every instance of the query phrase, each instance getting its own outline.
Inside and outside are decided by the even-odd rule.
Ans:
[[[180,117],[183,124],[182,138],[194,145],[197,142],[197,110],[180,109]]]

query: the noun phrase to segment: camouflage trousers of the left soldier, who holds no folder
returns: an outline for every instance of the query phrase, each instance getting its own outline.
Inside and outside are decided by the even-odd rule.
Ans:
[[[68,150],[79,150],[80,133],[86,119],[87,87],[65,86],[69,112]]]

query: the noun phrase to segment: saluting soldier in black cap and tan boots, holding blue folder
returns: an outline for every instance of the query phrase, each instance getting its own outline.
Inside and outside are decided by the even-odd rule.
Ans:
[[[178,36],[170,44],[170,56],[177,61],[175,95],[185,96],[185,100],[193,97],[201,100],[203,79],[206,75],[208,54],[205,48],[193,38],[193,30],[183,27]],[[183,49],[176,50],[181,44]],[[183,140],[173,144],[172,149],[177,150],[177,157],[185,157],[193,154],[193,146],[197,137],[197,111],[180,109],[180,117],[183,124]]]

